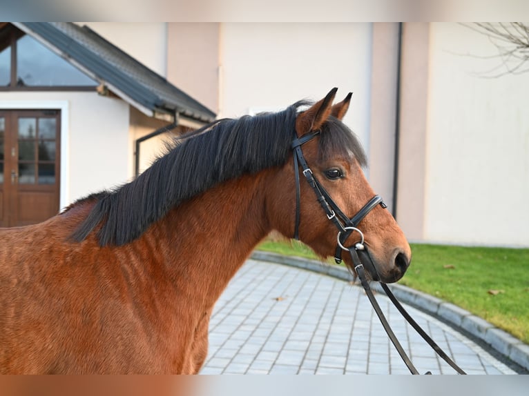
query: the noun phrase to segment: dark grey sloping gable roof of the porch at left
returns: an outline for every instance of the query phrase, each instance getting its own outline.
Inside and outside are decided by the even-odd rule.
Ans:
[[[215,113],[164,77],[99,36],[71,22],[13,23],[140,111],[211,122]]]

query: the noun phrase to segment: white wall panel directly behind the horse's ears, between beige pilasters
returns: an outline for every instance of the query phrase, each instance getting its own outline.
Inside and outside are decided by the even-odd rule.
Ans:
[[[370,23],[221,23],[220,117],[354,92],[345,123],[369,152]],[[190,92],[192,95],[192,92]]]

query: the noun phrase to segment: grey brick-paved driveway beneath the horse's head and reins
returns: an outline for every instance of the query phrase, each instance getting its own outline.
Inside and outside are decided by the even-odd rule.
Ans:
[[[455,373],[387,297],[376,297],[420,373]],[[515,373],[453,328],[406,308],[467,373]],[[409,373],[360,286],[253,259],[216,304],[209,341],[201,374]]]

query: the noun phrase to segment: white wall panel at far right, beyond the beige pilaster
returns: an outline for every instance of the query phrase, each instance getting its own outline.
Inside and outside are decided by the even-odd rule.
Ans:
[[[486,78],[487,37],[430,29],[425,240],[529,246],[529,73]]]

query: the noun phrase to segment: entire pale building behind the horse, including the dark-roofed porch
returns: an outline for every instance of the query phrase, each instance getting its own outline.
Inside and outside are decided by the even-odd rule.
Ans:
[[[6,197],[13,199],[13,188],[5,187],[11,177],[19,185],[19,208],[48,205],[58,210],[89,192],[122,184],[136,170],[146,168],[164,139],[163,133],[154,132],[168,123],[177,120],[185,128],[199,126],[215,115],[240,117],[278,110],[299,99],[320,99],[336,86],[339,96],[354,92],[345,123],[363,142],[370,183],[385,197],[410,240],[529,246],[529,210],[524,206],[529,194],[529,113],[524,106],[529,74],[492,78],[488,71],[501,67],[501,59],[494,57],[496,48],[467,26],[75,26],[52,27],[64,37],[75,36],[84,48],[101,45],[99,39],[88,43],[97,34],[108,43],[93,49],[98,57],[82,48],[72,52],[61,46],[66,39],[41,24],[0,26],[0,32],[15,31],[10,33],[11,40],[34,39],[84,77],[81,82],[63,82],[63,89],[37,90],[28,88],[28,81],[17,88],[20,76],[10,70],[6,80],[10,87],[6,88],[2,80],[6,72],[0,67],[0,86],[4,87],[0,89],[0,130],[2,119],[4,130],[14,130],[15,124],[26,128],[17,136],[4,132],[0,158],[4,186],[0,208],[4,213],[13,210],[6,209]],[[4,36],[0,37],[3,65],[8,47],[1,44]],[[44,70],[48,66],[41,59],[34,59],[33,64]],[[95,59],[104,59],[113,68]],[[113,79],[119,71],[146,86],[145,81],[157,86],[160,79],[167,86],[157,86],[150,94],[141,87],[131,90]],[[164,95],[171,97],[164,99],[171,106],[163,104]],[[35,135],[30,135],[30,124]],[[47,135],[52,126],[57,130],[55,139]],[[15,151],[19,151],[12,155],[15,140]],[[21,155],[23,146],[34,150]],[[44,152],[48,147],[55,157]],[[17,159],[17,175],[11,174],[13,158]],[[52,169],[55,184],[51,183]],[[22,186],[23,177],[35,178],[31,187]],[[26,209],[18,209],[19,216],[27,214]],[[47,215],[43,212],[41,216]]]

